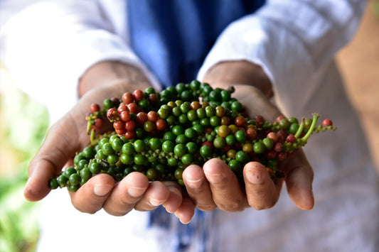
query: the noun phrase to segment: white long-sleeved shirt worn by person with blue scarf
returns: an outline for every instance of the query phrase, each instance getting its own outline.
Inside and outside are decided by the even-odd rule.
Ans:
[[[1,12],[11,13],[1,15],[1,61],[19,87],[48,106],[52,122],[75,104],[78,79],[95,62],[134,64],[159,89],[129,46],[126,1],[39,1],[23,8],[14,0],[0,4]],[[208,251],[377,251],[378,175],[333,63],[334,54],[356,32],[364,7],[365,1],[358,0],[268,1],[218,38],[198,80],[217,62],[250,60],[272,80],[284,114],[317,111],[333,119],[338,130],[314,136],[304,148],[315,172],[314,209],[294,207],[284,187],[272,209],[205,214]],[[43,199],[41,217],[38,251],[171,251],[176,243],[174,226],[148,229],[144,212],[121,218],[103,211],[81,214],[64,190]],[[189,251],[201,251],[198,237],[192,239]]]

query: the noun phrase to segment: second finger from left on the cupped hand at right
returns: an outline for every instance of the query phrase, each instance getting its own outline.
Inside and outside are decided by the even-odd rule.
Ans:
[[[247,207],[245,193],[242,192],[237,177],[223,160],[208,160],[203,165],[203,170],[212,191],[213,201],[220,209],[235,212]]]

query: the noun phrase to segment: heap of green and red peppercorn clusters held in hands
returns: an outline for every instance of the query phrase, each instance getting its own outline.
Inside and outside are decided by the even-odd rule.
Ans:
[[[265,165],[273,180],[282,177],[278,162],[292,157],[313,132],[335,130],[331,120],[285,118],[249,119],[232,97],[233,87],[220,89],[193,80],[161,92],[149,87],[91,104],[86,116],[90,145],[77,153],[74,166],[50,180],[50,188],[76,191],[93,175],[106,173],[122,180],[143,172],[149,180],[175,180],[183,185],[188,165],[202,166],[220,158],[242,181],[250,161]],[[104,131],[106,122],[112,130]]]

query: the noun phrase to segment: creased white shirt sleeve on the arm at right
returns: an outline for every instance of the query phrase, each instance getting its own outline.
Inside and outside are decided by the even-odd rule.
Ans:
[[[353,38],[364,8],[358,0],[267,1],[223,31],[198,79],[218,62],[247,60],[262,66],[274,93],[303,94],[307,80]]]

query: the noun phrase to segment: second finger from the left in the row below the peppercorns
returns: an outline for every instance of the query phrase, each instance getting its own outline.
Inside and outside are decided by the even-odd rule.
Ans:
[[[149,187],[149,180],[141,172],[132,172],[114,187],[103,208],[108,214],[123,216],[130,212]]]

